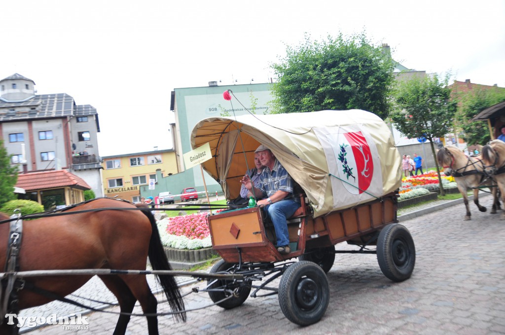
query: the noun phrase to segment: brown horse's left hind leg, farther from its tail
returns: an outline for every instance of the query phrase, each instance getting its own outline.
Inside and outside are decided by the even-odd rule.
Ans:
[[[135,299],[126,283],[118,276],[104,275],[99,277],[118,299],[121,312],[131,313],[137,299]],[[122,335],[126,332],[130,318],[130,315],[121,314],[119,316],[116,328],[114,329],[114,335]]]

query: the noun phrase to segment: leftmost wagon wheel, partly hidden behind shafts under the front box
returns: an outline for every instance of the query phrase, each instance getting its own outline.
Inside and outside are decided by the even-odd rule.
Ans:
[[[210,273],[225,272],[229,268],[231,268],[231,266],[232,266],[231,263],[226,263],[224,259],[222,259],[216,264],[214,264]],[[222,290],[222,291],[209,291],[209,297],[215,303],[232,295],[231,293],[226,292],[225,290],[234,291],[235,289],[238,288],[236,292],[236,297],[230,298],[217,304],[219,307],[225,309],[231,309],[242,305],[249,296],[249,293],[251,292],[250,282],[236,282],[234,280],[208,279],[207,285],[209,285],[208,286],[209,290]]]

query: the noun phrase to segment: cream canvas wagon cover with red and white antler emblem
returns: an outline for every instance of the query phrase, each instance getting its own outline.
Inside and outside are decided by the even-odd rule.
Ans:
[[[255,167],[260,144],[305,190],[314,217],[380,198],[401,184],[391,130],[362,110],[207,118],[194,126],[191,146],[207,142],[213,158],[203,168],[227,199],[239,195],[239,180]]]

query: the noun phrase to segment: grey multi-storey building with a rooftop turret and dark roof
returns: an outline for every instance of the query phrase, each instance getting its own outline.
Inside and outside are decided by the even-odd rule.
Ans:
[[[17,73],[0,80],[0,138],[20,172],[65,169],[103,196],[99,131],[91,105],[66,93],[35,94],[35,82]]]

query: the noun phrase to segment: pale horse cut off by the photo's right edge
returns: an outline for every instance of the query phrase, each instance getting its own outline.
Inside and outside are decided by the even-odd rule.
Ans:
[[[498,184],[501,201],[505,204],[505,142],[499,139],[490,141],[482,148],[482,162],[486,173],[491,175]],[[500,220],[505,220],[505,210]]]

